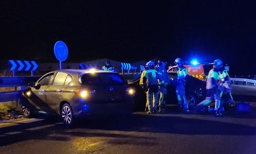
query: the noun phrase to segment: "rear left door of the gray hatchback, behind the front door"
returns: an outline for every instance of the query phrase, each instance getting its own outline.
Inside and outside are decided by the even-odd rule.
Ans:
[[[67,79],[68,78],[68,79]],[[66,79],[71,81],[70,75],[66,72],[57,72],[52,85],[47,88],[46,100],[49,106],[55,111],[59,111],[59,104],[61,100],[61,96],[69,82],[65,82]]]

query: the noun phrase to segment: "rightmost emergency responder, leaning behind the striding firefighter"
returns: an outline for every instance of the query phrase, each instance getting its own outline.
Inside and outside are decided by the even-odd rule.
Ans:
[[[230,106],[234,107],[234,100],[231,94],[231,81],[229,78],[229,74],[227,73],[227,70],[224,69],[222,66],[219,71],[219,78],[220,78],[220,84],[219,84],[220,98],[223,92],[226,90],[227,97],[229,98]]]

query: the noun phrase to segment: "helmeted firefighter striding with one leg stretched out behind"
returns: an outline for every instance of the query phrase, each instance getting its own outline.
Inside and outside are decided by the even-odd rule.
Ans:
[[[204,105],[209,104],[212,102],[212,99],[214,97],[215,99],[215,116],[216,117],[221,117],[221,108],[220,108],[220,97],[219,97],[219,90],[218,90],[218,81],[219,81],[219,76],[218,72],[220,71],[222,66],[222,61],[217,59],[213,62],[213,68],[209,71],[209,74],[207,76],[206,80],[206,99],[197,104],[196,110],[198,111],[201,109]]]

